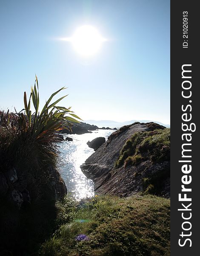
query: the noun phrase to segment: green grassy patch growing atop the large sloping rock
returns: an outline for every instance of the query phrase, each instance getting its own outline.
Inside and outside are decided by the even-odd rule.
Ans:
[[[126,141],[115,167],[138,165],[143,160],[159,163],[170,158],[170,129],[135,133]]]

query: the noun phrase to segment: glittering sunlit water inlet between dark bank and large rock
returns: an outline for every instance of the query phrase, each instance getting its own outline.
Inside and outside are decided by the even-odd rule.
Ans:
[[[60,175],[66,183],[68,193],[73,195],[77,200],[94,195],[94,184],[92,180],[86,178],[80,169],[80,165],[94,153],[94,150],[89,148],[86,143],[97,137],[105,137],[107,140],[113,131],[96,130],[92,131],[92,133],[81,135],[62,134],[64,139],[70,137],[73,141],[59,143],[60,157],[58,168],[60,169]]]

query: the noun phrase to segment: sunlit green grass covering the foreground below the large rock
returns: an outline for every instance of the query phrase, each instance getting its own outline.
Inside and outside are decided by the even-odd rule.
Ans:
[[[41,245],[40,255],[170,255],[169,199],[151,195],[99,196],[77,205],[67,197],[60,203],[57,221],[57,231]],[[76,241],[80,234],[90,240]]]

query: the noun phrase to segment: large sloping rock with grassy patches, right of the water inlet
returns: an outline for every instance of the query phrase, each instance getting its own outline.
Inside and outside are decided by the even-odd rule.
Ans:
[[[169,129],[134,123],[110,135],[81,166],[99,194],[131,196],[137,192],[170,197]]]

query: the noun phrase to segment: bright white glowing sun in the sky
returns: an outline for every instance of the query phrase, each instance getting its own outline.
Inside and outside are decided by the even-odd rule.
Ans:
[[[77,28],[71,38],[66,38],[70,41],[74,50],[83,57],[95,55],[100,48],[105,38],[103,38],[98,30],[89,25],[80,26]]]

